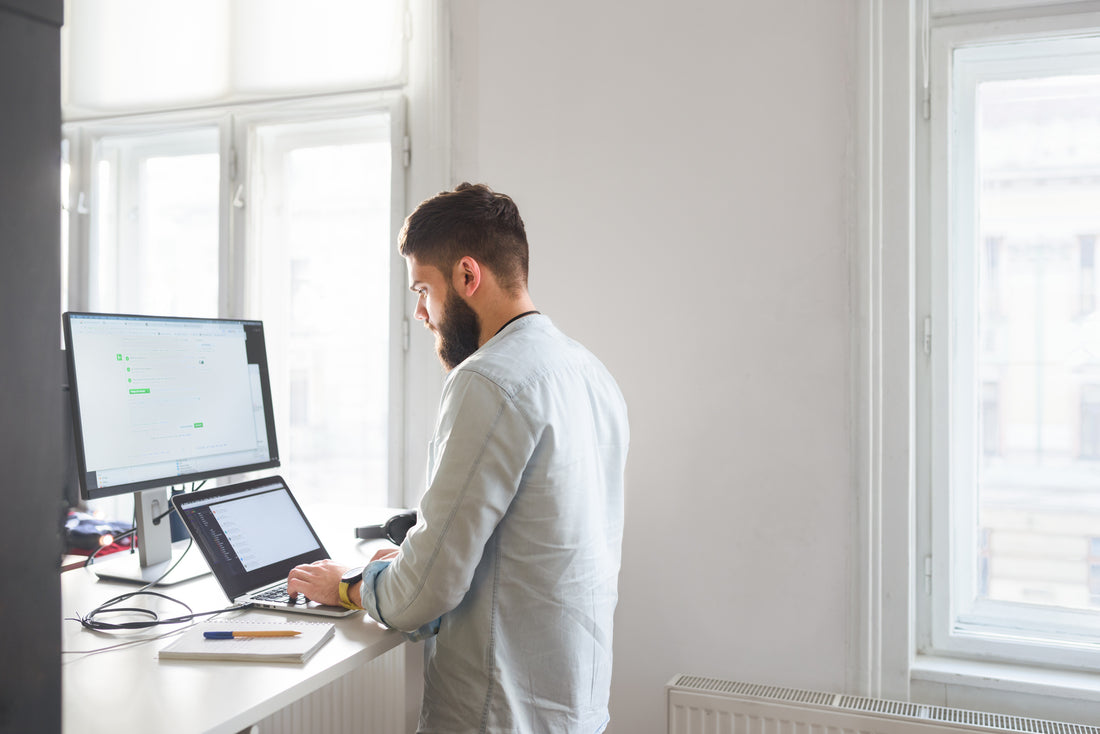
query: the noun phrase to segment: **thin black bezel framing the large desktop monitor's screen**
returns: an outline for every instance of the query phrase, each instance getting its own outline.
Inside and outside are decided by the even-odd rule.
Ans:
[[[118,319],[118,320],[150,320],[150,321],[187,321],[193,324],[240,324],[244,328],[258,328],[258,338],[261,340],[260,354],[262,355],[260,364],[260,387],[261,395],[264,404],[264,423],[267,430],[267,456],[268,459],[264,461],[258,461],[248,464],[237,464],[233,467],[223,467],[219,469],[210,469],[205,471],[193,472],[189,474],[176,474],[173,476],[158,476],[155,479],[141,480],[138,482],[128,482],[125,484],[114,484],[111,486],[89,486],[88,485],[88,465],[84,451],[84,426],[80,418],[80,385],[77,382],[76,375],[76,360],[73,353],[73,326],[72,318],[101,318],[101,319]],[[73,418],[73,442],[76,449],[76,473],[77,473],[77,485],[80,489],[81,500],[100,500],[102,497],[111,497],[120,494],[130,494],[133,492],[140,492],[142,490],[158,489],[165,486],[174,486],[177,484],[185,484],[187,482],[198,482],[208,479],[216,479],[219,476],[229,476],[232,474],[243,474],[246,472],[261,471],[264,469],[272,469],[279,465],[278,458],[278,443],[275,437],[275,412],[272,407],[272,390],[271,390],[271,375],[267,369],[267,344],[266,337],[264,335],[263,321],[256,319],[231,319],[231,318],[206,318],[206,317],[187,317],[187,316],[152,316],[147,314],[113,314],[113,313],[100,313],[100,311],[65,311],[62,315],[62,322],[65,332],[65,363],[68,375],[68,387],[69,387],[69,403],[72,406],[72,418]],[[249,337],[253,339],[255,337]]]

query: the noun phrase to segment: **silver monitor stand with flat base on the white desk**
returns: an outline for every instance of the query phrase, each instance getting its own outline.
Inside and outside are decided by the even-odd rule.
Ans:
[[[172,527],[167,516],[163,517],[160,523],[153,522],[154,518],[164,515],[169,506],[166,487],[135,493],[138,556],[114,554],[103,560],[97,560],[91,566],[96,576],[109,581],[130,581],[142,584],[156,581],[158,587],[170,587],[174,583],[209,573],[210,567],[198,548],[191,548],[184,556],[189,541],[172,543]],[[161,576],[176,561],[179,561],[179,565],[161,579]],[[161,580],[157,581],[157,579]]]

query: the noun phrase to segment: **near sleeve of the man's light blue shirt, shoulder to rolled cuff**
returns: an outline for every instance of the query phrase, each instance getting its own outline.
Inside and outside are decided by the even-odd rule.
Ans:
[[[373,592],[363,604],[372,616],[414,632],[459,605],[535,445],[530,425],[498,385],[473,371],[452,373],[417,525],[402,552],[375,573],[373,589],[363,584],[364,594]]]

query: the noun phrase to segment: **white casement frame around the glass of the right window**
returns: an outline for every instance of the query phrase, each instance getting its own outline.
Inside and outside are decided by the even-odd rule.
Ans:
[[[982,254],[980,243],[976,256],[966,260],[958,248],[952,247],[952,242],[964,233],[976,231],[972,217],[955,210],[952,197],[954,186],[963,188],[975,179],[970,161],[954,161],[950,156],[953,134],[971,133],[963,130],[953,118],[955,108],[950,90],[956,74],[953,55],[956,48],[965,46],[1081,35],[1100,35],[1100,13],[958,24],[942,22],[930,30],[931,114],[926,122],[917,120],[917,155],[923,152],[927,164],[919,173],[916,197],[917,219],[925,219],[928,227],[916,240],[915,287],[917,299],[925,306],[921,317],[930,317],[932,328],[928,331],[935,335],[935,341],[928,354],[917,352],[915,360],[916,401],[927,406],[926,412],[919,414],[915,430],[917,461],[924,468],[917,471],[915,485],[915,559],[923,562],[912,565],[916,589],[924,592],[916,594],[915,647],[919,654],[1100,670],[1096,633],[1089,637],[1091,645],[1072,635],[1040,642],[1030,639],[1031,633],[1020,624],[1036,625],[1046,618],[1055,624],[1100,629],[1096,612],[1045,612],[1036,616],[1028,605],[1007,602],[976,604],[977,616],[963,609],[959,596],[978,581],[972,578],[977,565],[970,560],[976,560],[979,551],[974,522],[975,496],[959,493],[959,487],[975,471],[972,461],[958,462],[950,458],[952,431],[961,430],[964,436],[977,437],[975,426],[960,425],[960,416],[957,412],[953,414],[952,405],[968,390],[971,396],[978,395],[980,384],[960,385],[964,377],[959,372],[953,373],[952,364],[958,361],[974,364],[980,335],[972,325],[964,329],[957,315],[977,313],[979,293],[976,286],[968,289],[956,285],[977,283],[976,263]],[[1028,75],[1046,76],[1065,65],[1062,61],[1032,64]],[[1020,75],[1014,70],[1012,76],[1019,78]],[[982,77],[986,78],[992,77]],[[976,79],[965,81],[974,84]],[[971,376],[972,371],[967,374]],[[976,458],[977,454],[970,460]],[[969,560],[957,559],[956,546],[971,548],[974,556],[968,557]],[[956,576],[959,570],[961,576]]]

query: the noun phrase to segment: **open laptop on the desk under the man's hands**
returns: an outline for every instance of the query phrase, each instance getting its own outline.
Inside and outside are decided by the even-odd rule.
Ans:
[[[323,616],[355,613],[287,595],[290,569],[329,554],[282,476],[177,494],[172,503],[234,604]]]

